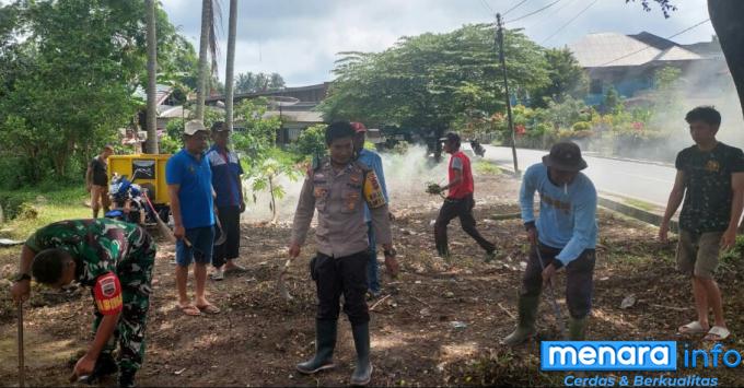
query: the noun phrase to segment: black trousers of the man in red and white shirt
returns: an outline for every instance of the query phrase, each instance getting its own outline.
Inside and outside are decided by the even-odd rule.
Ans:
[[[475,239],[481,248],[484,248],[486,251],[496,249],[493,243],[490,243],[484,238],[478,230],[475,228],[476,222],[475,217],[473,216],[473,208],[475,208],[473,195],[462,199],[447,198],[444,200],[442,209],[439,210],[437,222],[434,223],[434,242],[437,244],[437,251],[440,255],[445,255],[450,251],[446,237],[446,226],[450,224],[450,221],[454,220],[455,217],[460,217],[460,225],[463,227],[463,231],[473,237],[473,239]]]

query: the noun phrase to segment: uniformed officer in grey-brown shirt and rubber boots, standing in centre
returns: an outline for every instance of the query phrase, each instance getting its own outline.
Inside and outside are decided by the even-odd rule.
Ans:
[[[353,161],[354,130],[348,121],[328,126],[325,133],[330,157],[313,168],[300,193],[289,255],[295,258],[305,242],[317,210],[315,237],[317,255],[310,263],[317,286],[315,356],[297,366],[303,374],[334,367],[339,297],[351,322],[357,366],[352,385],[367,385],[372,375],[370,363],[370,314],[367,293],[369,240],[364,203],[370,208],[375,235],[385,256],[394,256],[388,210],[374,171]]]

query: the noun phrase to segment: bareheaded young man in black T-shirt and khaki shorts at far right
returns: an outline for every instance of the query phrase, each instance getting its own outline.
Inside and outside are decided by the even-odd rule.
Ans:
[[[719,249],[736,243],[736,228],[744,204],[744,153],[716,140],[721,114],[712,107],[697,107],[685,117],[695,145],[677,154],[677,175],[670,193],[659,238],[667,240],[670,220],[682,205],[677,267],[693,281],[698,319],[682,326],[682,334],[706,333],[706,340],[721,341],[731,332],[723,319],[721,291],[713,279]],[[710,327],[708,309],[716,324]]]

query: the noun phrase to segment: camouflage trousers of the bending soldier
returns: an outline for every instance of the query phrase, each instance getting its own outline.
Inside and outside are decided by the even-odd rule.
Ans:
[[[133,374],[142,367],[144,358],[144,329],[150,308],[152,268],[155,260],[155,244],[152,238],[147,235],[140,246],[131,247],[129,257],[137,258],[137,260],[130,260],[132,263],[117,268],[121,284],[123,310],[116,331],[108,339],[103,353],[113,352],[118,342],[119,371]],[[103,315],[95,309],[94,333],[101,325],[101,319]]]

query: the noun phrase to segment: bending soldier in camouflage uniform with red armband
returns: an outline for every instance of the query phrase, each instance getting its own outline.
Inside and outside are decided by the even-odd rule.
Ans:
[[[107,219],[56,222],[23,246],[13,297],[27,297],[30,270],[39,283],[62,286],[77,280],[92,287],[95,339],[73,377],[115,373],[112,351],[118,341],[119,385],[133,386],[144,355],[154,258],[155,244],[141,226]]]

